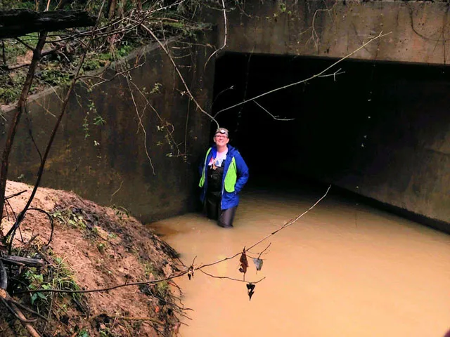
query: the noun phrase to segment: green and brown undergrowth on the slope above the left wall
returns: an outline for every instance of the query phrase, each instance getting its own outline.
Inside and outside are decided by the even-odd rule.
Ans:
[[[84,10],[96,17],[102,2],[102,0],[0,0],[0,9],[42,11],[49,4],[49,11],[53,11],[60,4],[62,8],[58,9]],[[136,16],[137,3],[138,1],[133,0],[106,1],[99,25],[101,33],[98,33],[91,46],[91,51],[86,55],[82,74],[108,67],[112,62],[129,55],[134,49],[155,43],[153,36],[148,33],[149,30],[162,40],[173,36],[195,40],[198,32],[209,28],[208,25],[193,19],[198,6],[206,4],[203,1],[188,0],[181,3],[175,0],[139,1],[141,3],[139,11],[145,13],[145,20]],[[234,0],[231,1],[231,4],[240,4],[240,1]],[[39,6],[41,7],[39,8]],[[155,8],[164,9],[155,11]],[[141,20],[141,24],[136,25],[136,20]],[[130,29],[129,27],[135,28]],[[90,29],[91,27],[79,27],[49,32],[47,43],[44,46],[44,56],[40,60],[30,94],[50,86],[68,86],[70,84],[73,78],[72,74],[79,65],[79,57],[84,52],[84,44],[89,38]],[[120,33],[108,34],[111,31]],[[30,64],[32,58],[31,48],[36,45],[37,39],[38,34],[34,32],[18,39],[1,41],[0,105],[15,103],[18,100],[27,74],[27,65]],[[94,122],[98,125],[97,123],[100,121]],[[86,131],[87,127],[84,126],[84,129],[86,135],[89,135],[89,132]]]

